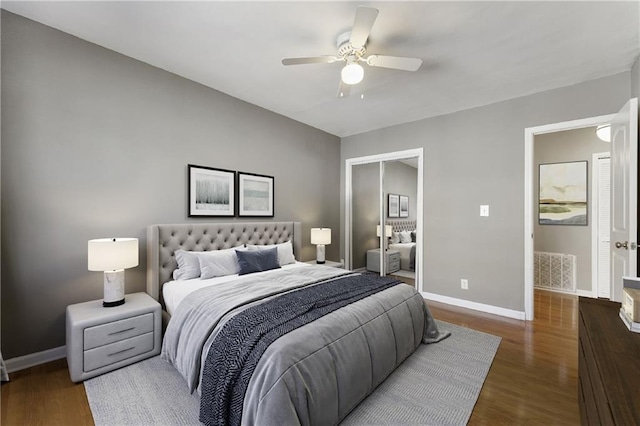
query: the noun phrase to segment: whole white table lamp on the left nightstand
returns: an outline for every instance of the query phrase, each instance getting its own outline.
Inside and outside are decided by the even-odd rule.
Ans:
[[[124,304],[124,270],[138,266],[137,238],[100,238],[89,240],[90,271],[104,272],[104,300],[110,308]]]

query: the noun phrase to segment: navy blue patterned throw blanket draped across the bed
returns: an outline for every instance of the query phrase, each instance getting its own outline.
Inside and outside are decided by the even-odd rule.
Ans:
[[[231,318],[213,341],[204,364],[200,421],[239,425],[244,394],[258,361],[279,337],[400,281],[377,275],[337,278],[275,297]]]

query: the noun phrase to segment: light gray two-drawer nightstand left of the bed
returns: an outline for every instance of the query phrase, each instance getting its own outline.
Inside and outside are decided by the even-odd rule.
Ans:
[[[67,363],[80,382],[160,353],[160,304],[146,293],[125,296],[124,305],[102,300],[67,306]]]

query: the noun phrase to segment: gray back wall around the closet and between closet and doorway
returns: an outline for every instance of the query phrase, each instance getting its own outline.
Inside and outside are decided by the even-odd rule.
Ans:
[[[625,72],[354,135],[341,159],[424,147],[423,289],[523,311],[524,129],[611,114],[629,91]]]

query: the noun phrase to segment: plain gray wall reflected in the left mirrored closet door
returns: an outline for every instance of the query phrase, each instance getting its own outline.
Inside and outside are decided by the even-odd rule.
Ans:
[[[380,247],[376,226],[380,223],[380,164],[358,164],[351,175],[351,269],[367,266],[367,250]]]

